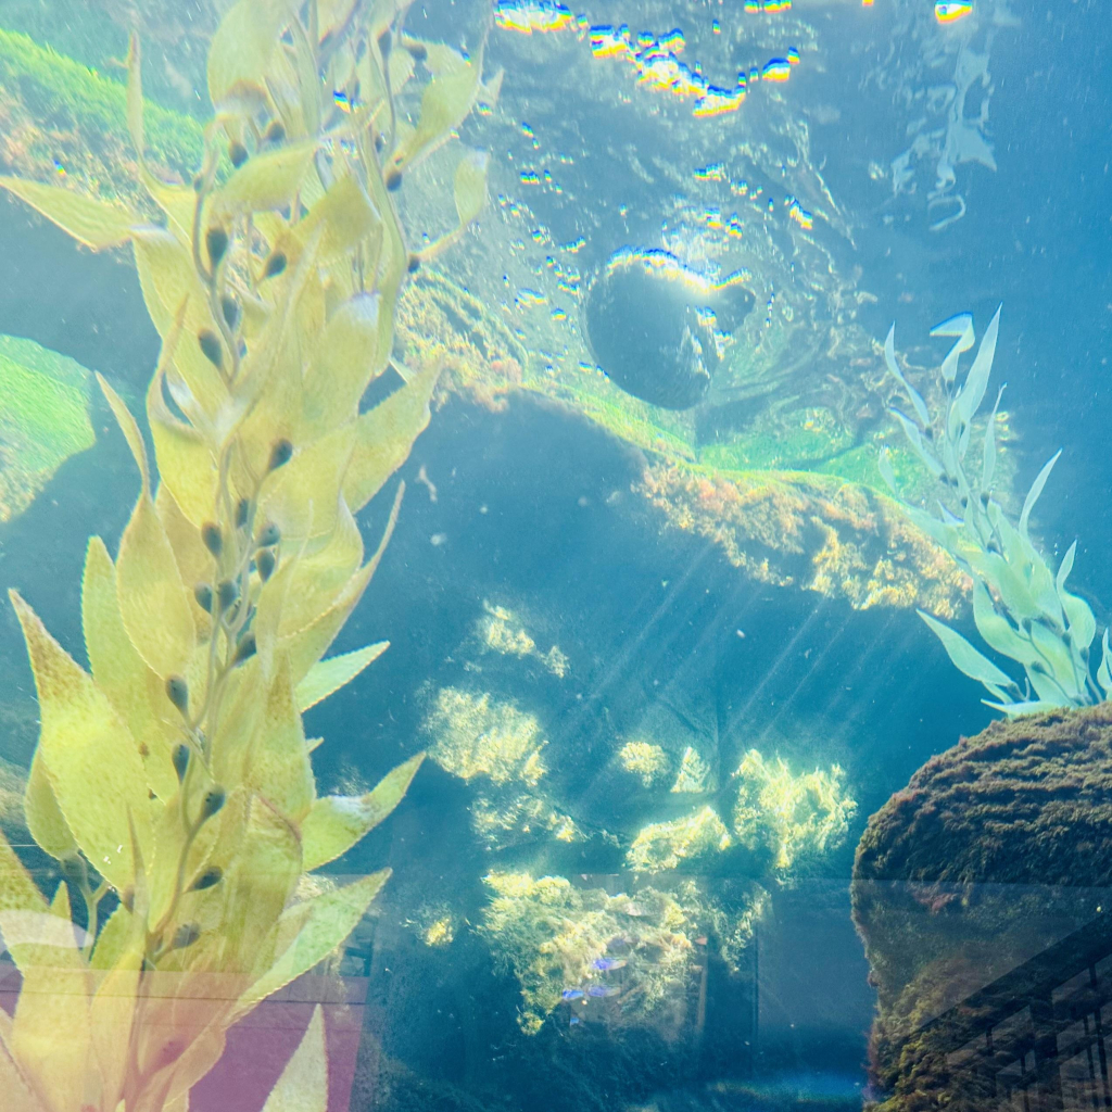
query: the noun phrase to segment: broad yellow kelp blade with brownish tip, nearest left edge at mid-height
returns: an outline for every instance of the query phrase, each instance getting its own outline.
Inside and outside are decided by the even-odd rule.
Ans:
[[[139,748],[108,697],[10,592],[39,693],[39,752],[58,806],[89,863],[117,891],[135,880],[129,815],[150,843],[148,791]]]

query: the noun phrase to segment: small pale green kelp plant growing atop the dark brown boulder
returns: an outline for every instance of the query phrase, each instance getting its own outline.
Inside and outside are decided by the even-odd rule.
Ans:
[[[984,702],[1009,716],[1063,706],[1100,703],[1112,692],[1112,651],[1108,631],[1100,665],[1092,668],[1090,649],[1096,620],[1084,599],[1066,590],[1076,543],[1070,545],[1055,574],[1035,548],[1029,532],[1031,512],[1042,494],[1056,453],[1035,476],[1012,524],[993,497],[996,459],[996,411],[1001,387],[984,427],[980,468],[969,469],[974,420],[984,400],[996,350],[1000,309],[981,339],[976,357],[959,383],[959,357],[973,346],[973,318],[960,314],[931,330],[955,341],[939,371],[945,406],[932,415],[923,396],[907,381],[895,359],[895,326],[888,331],[884,357],[888,371],[911,401],[911,414],[892,413],[907,443],[943,488],[933,510],[905,505],[912,520],[933,537],[973,580],[973,620],[986,645],[1015,661],[1026,675],[1023,687],[974,648],[961,634],[920,610],[951,661],[993,696]],[[898,497],[891,461],[882,453],[881,474]],[[949,505],[947,505],[949,504]]]

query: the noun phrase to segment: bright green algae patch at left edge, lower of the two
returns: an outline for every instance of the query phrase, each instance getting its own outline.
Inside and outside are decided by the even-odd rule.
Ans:
[[[89,371],[32,340],[0,335],[0,522],[27,509],[95,440]]]

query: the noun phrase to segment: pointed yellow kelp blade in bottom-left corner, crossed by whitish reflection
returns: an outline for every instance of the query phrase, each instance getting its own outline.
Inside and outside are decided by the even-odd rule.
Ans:
[[[89,1070],[92,975],[70,920],[69,892],[61,884],[46,916],[39,953],[21,971],[10,1048],[43,1102],[64,1110],[91,1103],[97,1084]]]

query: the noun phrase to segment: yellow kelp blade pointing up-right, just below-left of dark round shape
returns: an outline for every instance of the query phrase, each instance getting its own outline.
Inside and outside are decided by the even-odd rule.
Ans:
[[[374,409],[361,414],[351,463],[344,477],[344,497],[357,514],[406,461],[414,441],[429,420],[429,401],[440,366],[418,371]]]

